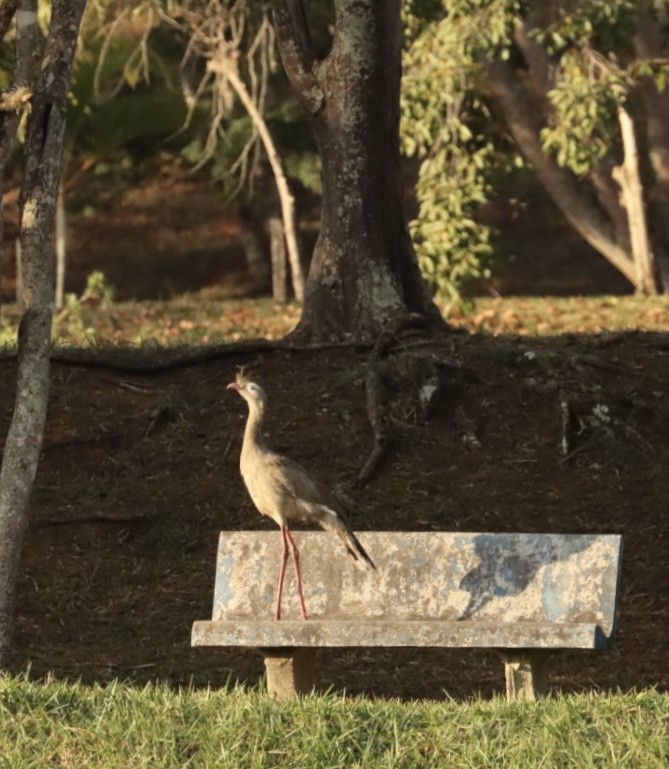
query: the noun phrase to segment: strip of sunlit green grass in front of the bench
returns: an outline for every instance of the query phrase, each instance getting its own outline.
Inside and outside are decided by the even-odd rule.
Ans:
[[[669,695],[536,705],[85,687],[0,677],[0,767],[365,769],[669,765]]]

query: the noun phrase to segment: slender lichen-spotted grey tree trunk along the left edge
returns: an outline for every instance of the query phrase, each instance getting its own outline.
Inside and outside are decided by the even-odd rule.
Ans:
[[[43,69],[28,119],[21,187],[25,312],[18,339],[16,402],[0,471],[0,667],[11,644],[14,597],[49,392],[53,231],[67,93],[86,0],[54,0]]]

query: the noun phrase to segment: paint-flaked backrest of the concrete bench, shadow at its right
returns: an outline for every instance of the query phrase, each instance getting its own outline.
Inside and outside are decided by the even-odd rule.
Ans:
[[[618,535],[363,532],[365,570],[327,532],[294,532],[312,619],[592,623],[613,634]],[[272,616],[279,531],[222,532],[213,620]],[[299,617],[290,565],[283,616]]]

